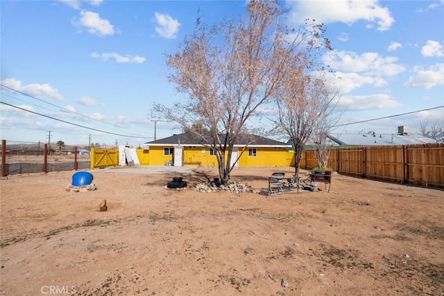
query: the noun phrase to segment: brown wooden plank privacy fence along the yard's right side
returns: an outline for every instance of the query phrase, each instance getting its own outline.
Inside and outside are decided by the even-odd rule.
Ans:
[[[317,165],[315,150],[304,150],[301,167]],[[443,143],[337,148],[327,166],[347,175],[444,188]]]

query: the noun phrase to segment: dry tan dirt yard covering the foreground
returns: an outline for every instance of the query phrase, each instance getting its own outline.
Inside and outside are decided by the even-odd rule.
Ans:
[[[330,193],[199,193],[216,168],[168,169],[96,169],[86,192],[66,191],[74,171],[0,180],[0,294],[444,295],[444,191],[334,175]],[[293,168],[231,178],[273,171]]]

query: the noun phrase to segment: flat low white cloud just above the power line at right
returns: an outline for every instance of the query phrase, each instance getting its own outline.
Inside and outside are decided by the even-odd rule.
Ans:
[[[389,94],[372,94],[369,96],[342,96],[339,105],[348,111],[400,107],[400,103]]]

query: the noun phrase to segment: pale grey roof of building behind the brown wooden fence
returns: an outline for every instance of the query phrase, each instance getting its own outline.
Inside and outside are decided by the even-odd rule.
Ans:
[[[390,146],[436,143],[435,139],[414,134],[329,134],[341,146]]]

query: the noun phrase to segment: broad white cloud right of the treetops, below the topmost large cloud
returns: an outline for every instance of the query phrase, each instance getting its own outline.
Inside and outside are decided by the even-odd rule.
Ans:
[[[382,58],[378,53],[357,55],[351,51],[338,51],[324,59],[325,64],[333,69],[375,76],[395,76],[405,71],[404,66],[396,64],[396,61],[396,57]]]

